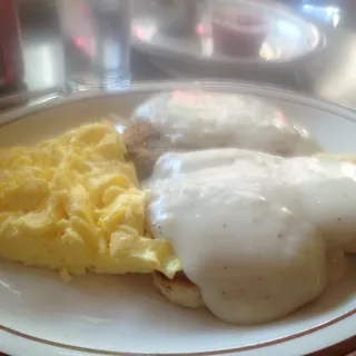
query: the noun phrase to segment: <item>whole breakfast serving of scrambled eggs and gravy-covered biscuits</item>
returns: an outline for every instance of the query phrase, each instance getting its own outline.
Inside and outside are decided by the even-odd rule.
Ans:
[[[274,320],[347,270],[356,165],[319,151],[261,99],[161,93],[122,135],[97,122],[0,150],[0,257],[65,279],[152,273],[172,303]]]

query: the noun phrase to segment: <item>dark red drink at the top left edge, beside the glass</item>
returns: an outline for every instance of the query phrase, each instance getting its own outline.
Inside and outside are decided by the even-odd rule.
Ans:
[[[0,87],[23,77],[18,11],[14,0],[0,0]]]

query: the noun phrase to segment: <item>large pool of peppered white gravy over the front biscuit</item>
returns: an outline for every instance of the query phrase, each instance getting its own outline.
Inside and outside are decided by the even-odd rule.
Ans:
[[[154,236],[172,243],[225,322],[288,315],[344,274],[339,248],[356,228],[350,165],[237,149],[166,154],[147,185]]]

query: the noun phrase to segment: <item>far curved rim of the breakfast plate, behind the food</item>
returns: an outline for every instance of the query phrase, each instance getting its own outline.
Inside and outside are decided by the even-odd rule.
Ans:
[[[83,90],[76,93],[53,92],[50,96],[41,97],[31,100],[27,105],[11,108],[6,112],[0,112],[0,128],[4,125],[12,123],[21,119],[23,116],[28,116],[38,111],[46,111],[52,108],[70,105],[79,101],[95,100],[106,97],[115,97],[118,95],[130,93],[155,93],[161,91],[172,90],[209,90],[209,91],[222,91],[222,92],[239,92],[239,90],[258,91],[258,96],[266,96],[270,98],[279,98],[289,102],[299,103],[314,109],[319,109],[329,113],[334,113],[346,118],[348,121],[356,123],[356,107],[352,107],[342,102],[333,102],[323,98],[318,98],[314,95],[307,95],[290,90],[280,86],[268,85],[263,82],[244,81],[244,80],[216,80],[209,78],[189,80],[156,80],[156,81],[142,81],[134,82],[128,87],[122,87],[109,91],[102,90]],[[249,93],[249,92],[248,92]],[[255,93],[256,95],[256,93]]]

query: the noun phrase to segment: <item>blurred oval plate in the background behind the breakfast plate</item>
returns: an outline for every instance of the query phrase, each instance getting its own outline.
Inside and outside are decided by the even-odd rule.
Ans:
[[[218,61],[236,61],[243,57],[284,61],[312,52],[322,43],[316,27],[274,2],[266,2],[264,7],[228,0],[206,2],[206,7],[200,7],[192,33],[167,31],[162,26],[167,23],[162,19],[165,11],[171,13],[176,2],[161,12],[148,6],[151,1],[142,3],[147,9],[142,4],[134,12],[132,39],[135,46],[145,50]],[[182,7],[184,2],[179,2],[177,9]]]

